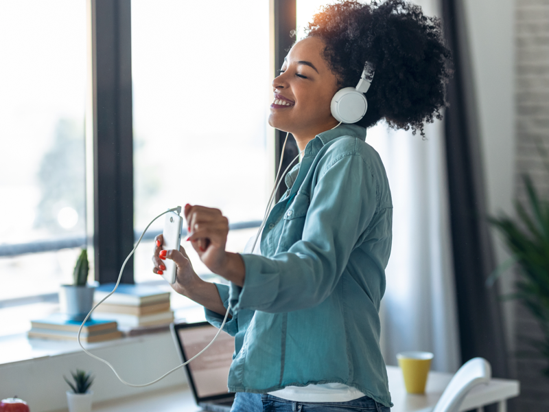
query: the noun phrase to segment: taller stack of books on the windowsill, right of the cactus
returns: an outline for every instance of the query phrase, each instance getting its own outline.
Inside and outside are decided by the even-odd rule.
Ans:
[[[96,288],[94,305],[114,288],[114,283]],[[120,328],[126,331],[167,326],[174,321],[174,311],[170,309],[170,292],[141,284],[119,284],[115,293],[97,306],[92,316],[94,319],[115,319]]]

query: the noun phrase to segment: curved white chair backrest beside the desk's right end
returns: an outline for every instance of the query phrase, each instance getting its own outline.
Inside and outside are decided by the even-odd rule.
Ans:
[[[467,393],[481,383],[488,383],[491,376],[492,368],[486,359],[467,361],[450,380],[432,412],[458,412]]]

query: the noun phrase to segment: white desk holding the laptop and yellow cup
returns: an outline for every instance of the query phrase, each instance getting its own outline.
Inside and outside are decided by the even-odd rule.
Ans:
[[[388,366],[389,390],[393,404],[391,412],[430,412],[441,397],[452,374],[429,373],[425,395],[406,393],[404,379],[399,367]],[[506,412],[506,400],[518,396],[517,380],[492,379],[489,385],[474,388],[463,401],[460,411],[482,410],[482,406],[498,403],[498,412]],[[93,405],[94,412],[198,412],[189,388],[165,390],[152,395],[135,396],[131,400],[116,400]]]

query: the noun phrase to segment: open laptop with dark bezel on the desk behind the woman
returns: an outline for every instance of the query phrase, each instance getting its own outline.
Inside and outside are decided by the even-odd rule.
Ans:
[[[172,323],[170,329],[182,362],[198,354],[218,332],[208,322]],[[194,400],[205,411],[231,411],[235,393],[228,391],[227,379],[233,352],[235,338],[222,331],[206,352],[185,365]]]

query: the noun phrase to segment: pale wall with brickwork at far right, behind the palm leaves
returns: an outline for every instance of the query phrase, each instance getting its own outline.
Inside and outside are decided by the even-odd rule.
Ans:
[[[533,175],[539,190],[549,192],[535,139],[549,150],[549,1],[465,0],[467,36],[480,122],[484,183],[489,213],[514,216],[513,198],[524,200],[519,174]],[[498,262],[506,253],[494,236]],[[512,290],[513,274],[500,281]],[[549,380],[544,361],[516,356],[539,328],[521,306],[502,304],[511,374],[521,381],[517,411],[549,410]]]

